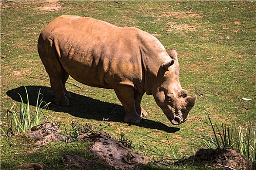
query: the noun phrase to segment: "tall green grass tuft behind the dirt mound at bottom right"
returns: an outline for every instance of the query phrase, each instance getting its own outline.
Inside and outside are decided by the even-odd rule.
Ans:
[[[203,139],[206,147],[209,149],[231,147],[252,161],[254,169],[256,169],[256,129],[253,125],[250,123],[249,126],[243,130],[240,126],[237,129],[233,125],[229,127],[226,123],[224,125],[224,123],[221,122],[221,127],[219,128],[215,124],[215,128],[209,115],[208,118],[212,126],[214,137],[200,137]]]

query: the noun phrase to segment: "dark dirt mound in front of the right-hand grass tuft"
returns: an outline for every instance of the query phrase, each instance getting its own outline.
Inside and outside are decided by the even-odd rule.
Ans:
[[[198,163],[207,163],[213,167],[231,169],[231,170],[252,170],[253,164],[247,157],[236,152],[232,148],[224,149],[200,149],[188,159],[178,161],[175,165],[183,164],[187,161]]]

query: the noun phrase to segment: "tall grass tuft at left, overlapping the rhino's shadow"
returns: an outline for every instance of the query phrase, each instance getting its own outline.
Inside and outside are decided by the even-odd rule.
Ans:
[[[16,109],[13,109],[15,103],[13,104],[12,108],[10,109],[10,112],[12,113],[12,116],[13,116],[12,119],[14,121],[14,126],[15,126],[15,130],[13,130],[13,128],[12,128],[13,121],[11,120],[10,123],[8,121],[8,126],[9,126],[8,131],[11,132],[12,135],[14,135],[15,132],[17,132],[18,134],[24,133],[27,130],[31,129],[33,126],[39,125],[39,123],[42,121],[44,110],[51,103],[51,102],[46,103],[46,102],[42,101],[42,99],[39,101],[39,97],[40,97],[40,95],[42,95],[40,93],[40,89],[39,89],[35,113],[32,114],[30,105],[29,105],[29,97],[28,97],[28,92],[27,92],[26,87],[25,87],[25,91],[26,91],[26,96],[27,96],[26,103],[24,103],[21,95],[19,94],[20,100],[21,100],[20,113],[18,113],[18,111]],[[45,103],[45,105],[42,106],[43,103]],[[1,129],[1,130],[3,131],[3,129]],[[7,131],[7,133],[5,133],[6,135],[8,135],[8,131]]]

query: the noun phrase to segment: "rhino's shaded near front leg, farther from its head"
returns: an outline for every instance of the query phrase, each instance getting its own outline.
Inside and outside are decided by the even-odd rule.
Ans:
[[[140,114],[136,110],[134,99],[135,89],[127,85],[116,85],[114,90],[125,111],[123,121],[133,124],[140,123]]]

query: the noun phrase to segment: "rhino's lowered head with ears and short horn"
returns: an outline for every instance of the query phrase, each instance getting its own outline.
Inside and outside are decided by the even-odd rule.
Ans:
[[[162,82],[153,93],[155,101],[172,124],[178,125],[188,119],[189,111],[195,105],[197,96],[190,97],[179,83],[177,51],[168,51],[171,61],[158,70],[158,80]]]

